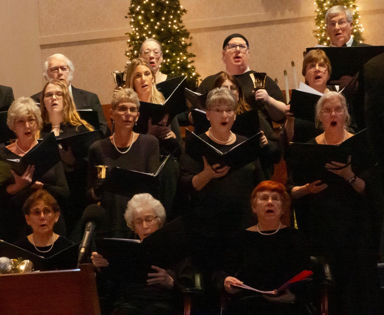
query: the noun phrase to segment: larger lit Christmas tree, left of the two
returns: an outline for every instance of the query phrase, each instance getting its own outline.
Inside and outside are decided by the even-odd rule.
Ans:
[[[197,84],[200,75],[192,65],[195,54],[188,52],[191,46],[189,31],[184,28],[182,16],[187,12],[179,0],[131,0],[128,16],[132,32],[126,33],[129,60],[137,58],[140,46],[147,38],[154,38],[162,45],[161,72],[174,76],[185,75]]]

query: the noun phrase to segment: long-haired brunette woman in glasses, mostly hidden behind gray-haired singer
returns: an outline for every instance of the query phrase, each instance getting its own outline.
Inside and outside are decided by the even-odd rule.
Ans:
[[[244,99],[243,89],[240,82],[232,74],[226,72],[220,73],[215,79],[213,85],[213,88],[216,87],[227,88],[233,92],[237,99],[236,115],[243,114],[248,110],[251,110],[251,107]],[[260,164],[265,178],[269,179],[273,174],[274,164],[280,162],[281,152],[278,145],[278,139],[275,134],[273,134],[270,124],[268,124],[263,115],[258,115],[258,120],[260,130],[263,132],[262,141],[266,143],[264,150],[262,150],[260,155]]]

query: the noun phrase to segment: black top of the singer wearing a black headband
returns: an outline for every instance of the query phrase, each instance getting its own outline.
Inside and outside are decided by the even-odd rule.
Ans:
[[[197,89],[197,92],[204,94],[212,90],[212,86],[215,82],[215,79],[218,77],[220,73],[222,72],[216,73],[212,76],[208,76],[207,78],[205,78],[201,82],[199,88]],[[250,77],[251,73],[257,73],[257,71],[250,70],[242,74],[236,74],[234,75],[234,77],[237,78],[241,84],[245,101],[251,106],[252,109],[257,108],[259,111],[261,111],[265,119],[271,124],[272,120],[266,110],[265,102],[256,101],[255,94],[252,94],[254,87],[253,87],[252,79]],[[269,76],[267,76],[265,79],[265,90],[268,92],[268,95],[273,97],[276,101],[285,103],[285,99],[284,99],[283,93],[280,90],[280,87],[278,87],[275,81],[273,81]]]

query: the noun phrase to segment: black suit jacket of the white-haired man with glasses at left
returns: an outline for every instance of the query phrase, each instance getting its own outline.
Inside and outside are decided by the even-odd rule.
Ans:
[[[104,135],[110,135],[111,133],[105,120],[99,97],[92,92],[76,89],[74,86],[72,86],[72,96],[74,104],[76,105],[76,109],[92,109],[98,112],[100,129],[103,131]],[[32,95],[31,98],[40,103],[41,92]]]

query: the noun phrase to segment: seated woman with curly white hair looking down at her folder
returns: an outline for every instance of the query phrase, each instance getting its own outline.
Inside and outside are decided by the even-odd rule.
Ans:
[[[166,221],[166,212],[159,200],[148,193],[137,194],[127,204],[124,213],[129,229],[142,241],[160,229]],[[91,255],[93,265],[108,267],[109,262],[97,252]],[[175,291],[177,275],[174,270],[151,266],[152,273],[148,274],[147,285],[126,282],[120,284],[120,298],[114,307],[115,312],[129,314],[174,314]],[[125,313],[124,313],[125,314]]]

